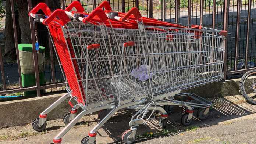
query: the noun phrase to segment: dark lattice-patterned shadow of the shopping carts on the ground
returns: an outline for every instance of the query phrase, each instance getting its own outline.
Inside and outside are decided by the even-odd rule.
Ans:
[[[159,126],[158,118],[150,120],[146,125],[138,126],[135,143],[146,141],[153,138],[170,137],[184,131],[193,131],[202,127],[217,125],[220,122],[250,115],[256,112],[256,105],[250,105],[245,102],[240,95],[212,98],[213,106],[210,108],[210,116],[207,120],[200,121],[196,118],[195,109],[191,126],[182,126],[181,116],[184,113],[182,108],[175,108],[169,114],[166,129]],[[103,132],[98,131],[101,137],[110,137],[114,143],[123,143],[122,133],[130,129],[129,120],[135,114],[135,111],[125,110],[113,115],[109,121],[102,127]],[[95,119],[99,122],[99,119]]]

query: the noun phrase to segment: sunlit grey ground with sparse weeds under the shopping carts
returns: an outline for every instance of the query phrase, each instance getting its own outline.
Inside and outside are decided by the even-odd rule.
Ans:
[[[196,117],[189,127],[180,123],[182,111],[175,108],[169,115],[166,130],[157,120],[139,126],[138,144],[255,144],[256,106],[245,103],[242,96],[212,99],[210,117],[200,121]],[[196,111],[195,111],[196,113]],[[115,114],[97,133],[97,144],[121,142],[121,134],[129,129],[128,123],[134,111]],[[97,115],[85,116],[64,137],[63,144],[80,144],[80,141],[98,123]],[[0,130],[0,144],[50,144],[63,128],[62,120],[47,121],[46,132],[35,132],[31,124]]]

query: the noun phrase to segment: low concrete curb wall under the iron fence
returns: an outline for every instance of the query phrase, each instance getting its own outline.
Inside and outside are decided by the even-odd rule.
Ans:
[[[204,98],[234,96],[240,94],[239,81],[240,79],[215,82],[183,92],[195,93]],[[40,112],[49,107],[63,94],[65,93],[0,102],[0,128],[31,123],[33,119],[39,116]],[[47,115],[47,120],[62,119],[69,110],[70,106],[67,99]]]

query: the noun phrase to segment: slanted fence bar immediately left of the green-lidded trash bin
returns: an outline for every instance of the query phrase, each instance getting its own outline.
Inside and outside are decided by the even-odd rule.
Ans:
[[[11,2],[11,16],[13,18],[13,33],[14,33],[14,43],[15,43],[15,50],[16,50],[16,57],[17,57],[17,65],[18,65],[18,73],[19,73],[19,85],[21,88],[22,86],[22,81],[21,81],[21,65],[19,62],[19,50],[18,50],[18,38],[17,38],[17,29],[16,29],[16,20],[15,20],[15,13],[14,13],[14,3],[13,0]]]

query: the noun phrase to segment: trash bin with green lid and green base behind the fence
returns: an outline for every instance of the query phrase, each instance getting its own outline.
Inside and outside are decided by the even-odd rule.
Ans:
[[[33,62],[32,44],[19,44],[19,61],[21,65],[21,79],[23,87],[32,87],[36,85],[35,67]],[[40,85],[45,84],[45,73],[43,58],[45,57],[45,47],[39,46],[38,53],[38,69]],[[26,91],[24,96],[36,94],[36,91]]]

